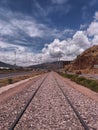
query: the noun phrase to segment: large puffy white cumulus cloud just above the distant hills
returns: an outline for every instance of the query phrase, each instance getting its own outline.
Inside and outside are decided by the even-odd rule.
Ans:
[[[62,41],[55,39],[52,43],[45,45],[42,53],[43,55],[47,54],[47,57],[50,57],[52,60],[64,59],[65,57],[73,59],[89,46],[90,42],[84,32],[77,31],[73,38]]]

